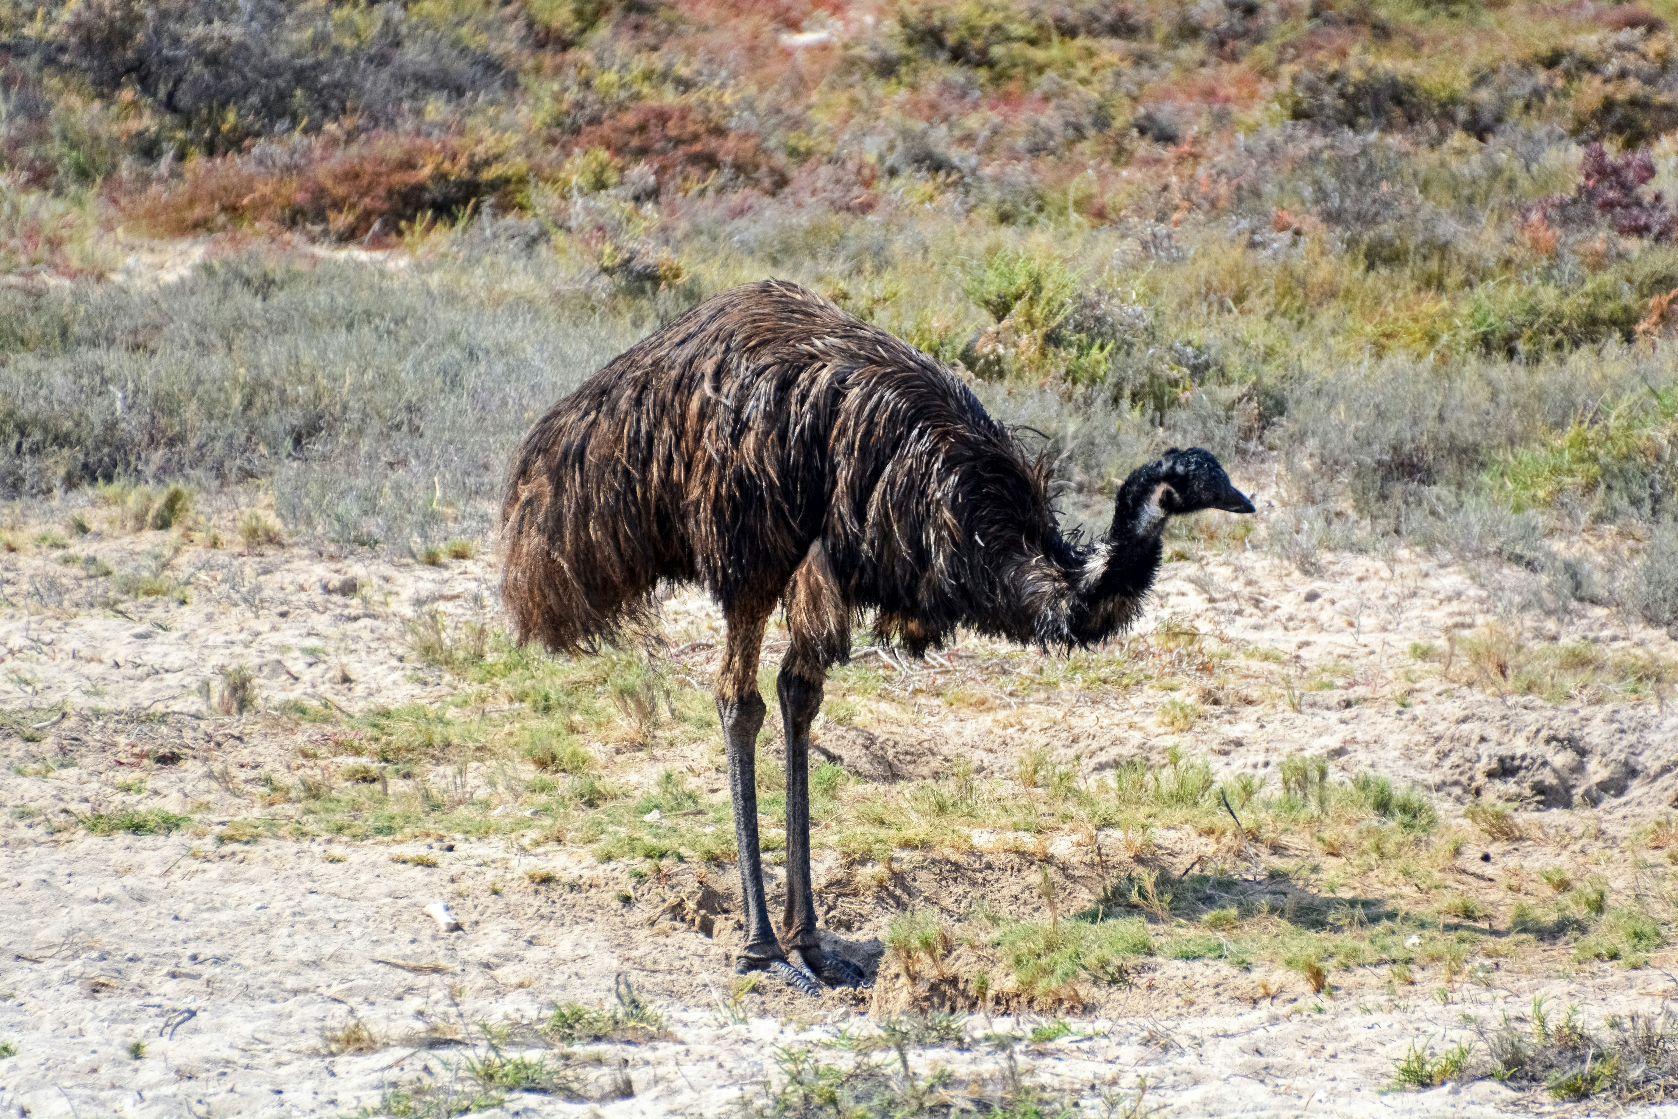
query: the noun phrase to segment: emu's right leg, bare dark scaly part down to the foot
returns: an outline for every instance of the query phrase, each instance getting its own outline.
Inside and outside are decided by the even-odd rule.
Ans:
[[[842,956],[822,951],[816,933],[816,891],[810,881],[810,723],[822,706],[822,683],[782,666],[775,679],[787,730],[787,958],[827,986],[861,986],[862,971]]]

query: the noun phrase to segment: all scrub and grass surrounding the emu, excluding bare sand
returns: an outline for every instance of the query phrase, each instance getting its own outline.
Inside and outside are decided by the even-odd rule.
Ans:
[[[1225,730],[1248,708],[1304,725],[1359,705],[1410,718],[1446,691],[1515,713],[1671,700],[1678,210],[1656,191],[1678,124],[1670,13],[876,7],[862,20],[710,0],[0,5],[0,555],[27,574],[0,606],[50,617],[74,591],[139,643],[211,594],[237,594],[257,627],[329,596],[351,616],[409,619],[399,674],[425,691],[396,701],[367,678],[339,708],[307,693],[319,676],[230,649],[248,664],[200,668],[191,718],[216,733],[284,718],[315,750],[295,770],[218,757],[205,785],[218,804],[188,800],[191,815],[131,807],[164,804],[149,797],[166,782],[122,770],[89,780],[107,797],[92,807],[30,795],[8,825],[190,830],[233,859],[289,837],[374,841],[369,866],[428,882],[470,861],[435,872],[438,854],[409,849],[495,837],[540,862],[564,846],[609,881],[586,886],[555,859],[564,877],[515,862],[460,889],[505,891],[497,904],[596,891],[589,904],[685,936],[698,911],[666,909],[666,894],[735,857],[715,634],[673,626],[651,653],[547,656],[512,646],[478,580],[525,428],[656,324],[774,273],[955,367],[1052,463],[1069,523],[1170,445],[1208,446],[1253,480],[1274,505],[1262,523],[1175,525],[1165,542],[1170,572],[1245,619],[1235,632],[1275,611],[1374,648],[1408,609],[1404,564],[1457,565],[1473,586],[1462,619],[1381,644],[1374,671],[1324,643],[1243,646],[1163,609],[1156,627],[1071,656],[973,639],[908,664],[859,629],[817,738],[911,726],[923,740],[960,716],[1019,750],[993,768],[955,758],[866,780],[834,747],[846,763],[812,768],[834,891],[878,906],[866,934],[883,934],[883,975],[913,988],[913,1010],[844,1060],[779,1050],[748,1109],[921,1114],[945,1092],[1059,1114],[1076,1101],[1030,1089],[1012,1047],[1054,1044],[1060,1018],[982,1042],[955,1017],[1072,1015],[1148,961],[1250,971],[1255,1000],[1329,1012],[1347,988],[1458,998],[1510,960],[1628,981],[1668,966],[1671,825],[1639,830],[1624,861],[1619,837],[1591,835],[1586,857],[1562,837],[1589,814],[1557,822],[1495,782],[1436,800],[1398,765],[1399,780],[1342,768],[1356,755],[1316,735],[1297,738],[1314,753],[1262,770],[1200,752],[1240,750]],[[151,262],[180,245],[136,250],[117,226],[208,238],[203,260],[176,277]],[[37,498],[50,517],[13,512]],[[1213,574],[1260,550],[1294,572],[1285,602]],[[1368,604],[1334,589],[1351,554],[1394,569]],[[326,587],[267,574],[326,555]],[[423,594],[354,565],[374,555]],[[302,653],[327,648],[346,659],[334,679],[356,683],[337,638]],[[112,651],[70,654],[91,653]],[[96,720],[76,705],[112,700],[89,681],[45,706],[30,671],[7,664],[0,733],[27,743],[8,760],[20,783],[57,794],[77,758],[49,720]],[[774,703],[772,666],[763,679]],[[1161,748],[1185,745],[1077,757],[1042,713],[1076,720],[1091,698]],[[774,711],[767,726],[775,862]],[[923,889],[980,857],[987,881],[1007,877],[995,898]],[[720,1013],[745,1017],[753,981],[769,980],[720,991]],[[955,1010],[928,1010],[935,986]],[[624,988],[555,1007],[540,1044],[661,1030]],[[1621,1106],[1678,1090],[1663,1015],[1587,1023],[1534,1007],[1467,1037],[1416,1040],[1394,1085],[1492,1075]],[[503,1040],[460,1052],[446,1090],[393,1085],[381,1114],[601,1097],[581,1052]],[[386,1044],[404,1040],[356,1018],[324,1038]],[[1012,1079],[933,1082],[901,1059],[928,1044],[993,1045]],[[1109,1111],[1141,1114],[1121,1102],[1141,1109],[1139,1092]]]

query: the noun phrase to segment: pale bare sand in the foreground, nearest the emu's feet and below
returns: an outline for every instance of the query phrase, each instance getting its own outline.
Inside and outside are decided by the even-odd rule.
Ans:
[[[438,931],[421,906],[448,896],[453,882],[492,874],[503,849],[460,844],[436,869],[394,867],[373,851],[327,864],[314,846],[210,861],[185,854],[185,842],[144,839],[7,849],[0,1035],[17,1038],[20,1054],[0,1065],[5,1114],[354,1114],[376,1106],[389,1084],[428,1070],[446,1080],[460,1057],[411,1040],[366,1055],[326,1052],[322,1035],[352,1018],[396,1040],[438,1027],[470,1033],[477,1022],[540,1018],[560,1000],[609,1002],[619,971],[654,1002],[671,965],[718,991],[730,978],[722,953],[696,933],[638,958],[602,950],[584,914],[562,913],[562,899],[455,901],[465,931]],[[1655,1005],[1670,988],[1665,976],[1624,971],[1539,985],[1604,1010]],[[1418,1038],[1457,1040],[1462,1015],[1495,1018],[1524,1008],[1530,993],[1475,990],[1450,1007],[1418,997],[1401,1012],[1341,998],[1322,1013],[1260,1005],[1116,1015],[1077,1020],[1079,1037],[1027,1045],[1019,1059],[1042,1085],[1081,1092],[1097,1114],[1101,1096],[1131,1096],[1138,1075],[1158,1114],[1532,1114],[1530,1101],[1490,1082],[1379,1090]],[[730,1023],[717,1005],[668,1007],[670,1040],[589,1047],[604,1057],[601,1090],[618,1059],[628,1062],[633,1099],[525,1096],[505,1114],[728,1114],[742,1097],[762,1102],[775,1045],[831,1040],[856,1025],[856,1013],[834,997],[797,1017],[745,1023]],[[970,1030],[978,1035],[985,1023],[973,1018]],[[141,1060],[124,1052],[134,1040],[148,1044]],[[965,1052],[925,1050],[916,1062],[963,1074],[998,1069],[977,1040]]]

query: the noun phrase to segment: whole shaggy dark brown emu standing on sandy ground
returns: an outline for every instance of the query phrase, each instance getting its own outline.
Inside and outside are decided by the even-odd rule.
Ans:
[[[851,631],[920,656],[958,626],[1071,649],[1123,631],[1166,518],[1253,512],[1203,450],[1119,487],[1104,539],[1064,537],[1049,470],[948,369],[797,284],[717,295],[559,401],[502,503],[502,592],[520,643],[594,651],[651,621],[663,580],[706,587],[727,624],[717,711],[728,757],[745,946],[816,995],[861,971],[822,951],[810,884],[810,721]],[[784,606],[787,896],[763,896],[755,743],[763,627]]]

